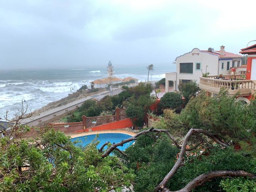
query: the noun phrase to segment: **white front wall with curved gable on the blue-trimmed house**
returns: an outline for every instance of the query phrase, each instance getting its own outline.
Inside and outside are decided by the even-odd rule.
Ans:
[[[201,69],[203,73],[206,71],[210,72],[210,75],[218,75],[218,55],[213,55],[207,52],[202,52],[197,48],[194,48],[191,52],[181,55],[176,58],[176,71],[177,71],[177,84],[179,84],[180,79],[196,80],[199,83],[199,77],[202,76],[201,70],[196,70],[196,63],[201,63]],[[180,73],[180,63],[193,63],[193,74]],[[232,64],[232,63],[231,63]]]

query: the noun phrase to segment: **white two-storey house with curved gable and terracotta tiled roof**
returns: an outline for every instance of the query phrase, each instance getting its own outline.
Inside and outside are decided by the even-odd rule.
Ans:
[[[224,46],[219,51],[213,48],[199,50],[194,48],[191,52],[185,53],[176,60],[176,72],[165,74],[165,92],[169,92],[170,81],[174,82],[174,90],[178,84],[191,80],[199,82],[202,73],[210,72],[210,75],[229,74],[230,68],[241,68],[242,55],[226,52]],[[207,69],[206,69],[207,68]],[[246,71],[246,66],[241,69]]]

